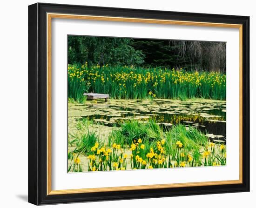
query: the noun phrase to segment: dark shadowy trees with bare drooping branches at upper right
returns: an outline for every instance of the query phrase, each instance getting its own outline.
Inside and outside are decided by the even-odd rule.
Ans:
[[[133,46],[145,54],[145,67],[226,70],[225,42],[135,39]]]

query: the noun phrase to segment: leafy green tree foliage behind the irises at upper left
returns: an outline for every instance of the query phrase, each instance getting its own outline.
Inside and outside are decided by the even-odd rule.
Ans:
[[[141,65],[144,55],[130,38],[68,36],[68,63],[103,66]]]

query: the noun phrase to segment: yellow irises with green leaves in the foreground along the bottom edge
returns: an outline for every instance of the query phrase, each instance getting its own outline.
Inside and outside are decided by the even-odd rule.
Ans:
[[[166,141],[154,144],[143,144],[135,139],[128,150],[114,143],[111,147],[100,146],[98,142],[91,148],[88,158],[88,171],[153,169],[153,168],[185,168],[196,166],[226,165],[225,145],[210,142],[198,155],[189,151],[181,141],[176,141],[172,154],[166,152]],[[69,170],[81,172],[81,159],[73,154],[73,163]],[[73,168],[73,169],[72,169]]]

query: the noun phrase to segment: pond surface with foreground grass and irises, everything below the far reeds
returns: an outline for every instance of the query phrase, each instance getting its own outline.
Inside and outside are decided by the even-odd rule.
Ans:
[[[68,109],[69,171],[226,164],[225,101],[86,101]]]

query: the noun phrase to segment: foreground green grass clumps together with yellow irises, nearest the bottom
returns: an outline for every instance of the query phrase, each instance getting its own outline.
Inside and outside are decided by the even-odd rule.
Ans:
[[[88,171],[226,165],[224,144],[212,143],[198,129],[182,124],[164,131],[154,120],[126,121],[105,143],[95,132],[84,132],[68,153],[68,171],[82,171],[79,154],[87,155]]]

